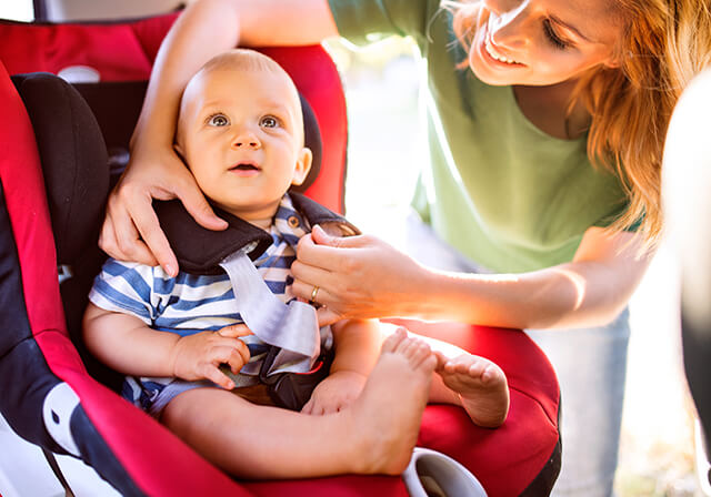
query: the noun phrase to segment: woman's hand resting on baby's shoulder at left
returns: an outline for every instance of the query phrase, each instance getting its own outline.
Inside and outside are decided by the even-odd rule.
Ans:
[[[132,159],[109,196],[99,245],[120,261],[160,264],[171,276],[178,261],[163,234],[152,200],[178,197],[198,223],[209,230],[224,230],[204,200],[192,174],[172,149],[134,148]]]

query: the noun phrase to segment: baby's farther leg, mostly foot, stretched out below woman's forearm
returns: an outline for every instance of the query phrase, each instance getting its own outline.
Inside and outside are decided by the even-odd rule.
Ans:
[[[464,331],[468,332],[469,326],[462,327]],[[503,371],[491,361],[450,343],[417,336],[424,339],[439,358],[430,402],[462,406],[479,426],[500,426],[509,412],[509,385]]]

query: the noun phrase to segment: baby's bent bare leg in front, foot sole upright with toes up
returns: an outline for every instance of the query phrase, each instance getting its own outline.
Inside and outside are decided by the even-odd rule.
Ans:
[[[236,476],[397,475],[417,442],[435,363],[427,345],[401,332],[383,343],[361,396],[339,413],[310,416],[198,388],[171,400],[162,422]]]

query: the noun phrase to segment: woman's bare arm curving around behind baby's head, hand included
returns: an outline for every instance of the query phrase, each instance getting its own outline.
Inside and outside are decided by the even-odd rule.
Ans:
[[[227,227],[172,149],[188,80],[211,57],[238,44],[311,44],[337,34],[327,0],[200,0],[188,7],[156,58],[131,140],[131,162],[109,197],[101,247],[114,258],[160,264],[177,274],[152,199],[179,197],[203,226]]]

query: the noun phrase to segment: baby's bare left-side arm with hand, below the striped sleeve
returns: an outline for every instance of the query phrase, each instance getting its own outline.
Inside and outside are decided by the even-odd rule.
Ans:
[[[188,336],[157,332],[136,316],[89,304],[83,321],[89,351],[109,367],[134,376],[210,379],[233,388],[219,366],[229,364],[237,374],[249,361],[247,345],[238,338],[250,334],[244,325]]]

